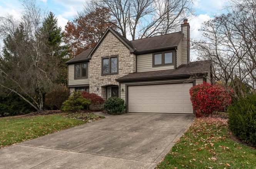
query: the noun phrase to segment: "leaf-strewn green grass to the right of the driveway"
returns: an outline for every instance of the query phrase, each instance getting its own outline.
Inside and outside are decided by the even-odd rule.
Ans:
[[[221,118],[199,118],[157,169],[256,169],[256,149],[238,143]]]

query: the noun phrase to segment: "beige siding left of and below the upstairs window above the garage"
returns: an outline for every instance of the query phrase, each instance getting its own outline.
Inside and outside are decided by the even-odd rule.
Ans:
[[[137,72],[157,71],[174,69],[173,65],[169,66],[152,66],[152,53],[137,55]]]

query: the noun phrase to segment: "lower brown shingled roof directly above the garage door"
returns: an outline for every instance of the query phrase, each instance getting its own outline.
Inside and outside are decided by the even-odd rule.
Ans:
[[[188,64],[182,64],[178,69],[167,69],[161,71],[148,71],[130,73],[125,76],[115,79],[117,82],[131,81],[131,80],[144,80],[144,79],[162,79],[162,78],[175,78],[185,77],[193,74],[207,74],[211,68],[211,61],[196,61]]]

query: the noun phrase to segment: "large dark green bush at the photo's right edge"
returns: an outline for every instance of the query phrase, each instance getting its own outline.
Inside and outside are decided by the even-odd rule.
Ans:
[[[241,98],[228,107],[228,125],[235,136],[256,145],[256,95]]]

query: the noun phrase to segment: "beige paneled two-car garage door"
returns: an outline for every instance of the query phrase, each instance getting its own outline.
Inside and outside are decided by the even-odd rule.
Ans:
[[[192,83],[128,86],[129,112],[193,113]]]

